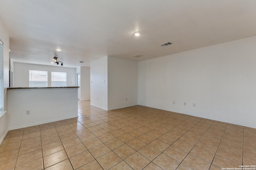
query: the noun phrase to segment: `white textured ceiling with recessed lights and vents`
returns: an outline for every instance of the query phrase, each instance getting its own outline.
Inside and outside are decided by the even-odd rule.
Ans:
[[[255,36],[255,18],[256,0],[0,0],[13,61],[55,66],[56,55],[68,67],[106,55],[143,61]]]

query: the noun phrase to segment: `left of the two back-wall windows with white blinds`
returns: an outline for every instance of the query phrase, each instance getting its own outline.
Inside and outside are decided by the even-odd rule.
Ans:
[[[48,71],[29,70],[29,87],[48,87]]]

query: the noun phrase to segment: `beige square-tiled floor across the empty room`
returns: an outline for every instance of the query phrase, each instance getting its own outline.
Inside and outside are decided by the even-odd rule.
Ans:
[[[78,118],[9,131],[0,170],[220,170],[256,164],[256,129],[78,102]],[[16,167],[16,168],[15,168]]]

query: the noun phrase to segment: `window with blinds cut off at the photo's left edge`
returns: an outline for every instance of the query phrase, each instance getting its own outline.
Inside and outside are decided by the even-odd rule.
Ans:
[[[0,113],[4,111],[4,43],[0,40]]]

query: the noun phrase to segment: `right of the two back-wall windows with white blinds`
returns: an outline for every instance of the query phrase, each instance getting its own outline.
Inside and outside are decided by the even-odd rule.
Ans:
[[[67,72],[52,71],[52,87],[66,87]]]

